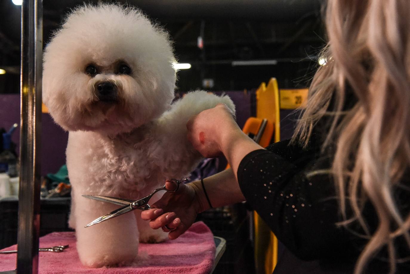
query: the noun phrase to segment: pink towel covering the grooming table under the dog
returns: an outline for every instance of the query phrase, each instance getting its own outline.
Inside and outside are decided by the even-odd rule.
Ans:
[[[121,237],[121,235],[118,235]],[[104,239],[101,239],[102,241]],[[137,266],[87,268],[82,266],[76,249],[74,232],[54,232],[40,238],[40,247],[69,244],[61,253],[39,252],[40,274],[162,274],[210,273],[215,260],[215,243],[211,230],[203,222],[194,223],[178,239],[160,244],[140,244],[139,253],[149,258]],[[15,250],[16,245],[1,251]],[[0,254],[0,271],[16,269],[16,254]]]

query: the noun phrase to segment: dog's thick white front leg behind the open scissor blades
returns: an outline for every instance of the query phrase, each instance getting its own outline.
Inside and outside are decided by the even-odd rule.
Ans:
[[[75,214],[77,251],[82,264],[88,267],[104,267],[129,265],[135,262],[139,235],[134,214],[123,214],[84,228],[99,216],[118,208],[118,205],[102,203],[81,196],[75,199],[72,214]]]

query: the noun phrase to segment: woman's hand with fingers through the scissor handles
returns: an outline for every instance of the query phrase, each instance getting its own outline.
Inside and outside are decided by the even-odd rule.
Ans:
[[[167,188],[172,189],[170,181],[166,181],[165,184]],[[150,220],[151,228],[162,228],[165,232],[169,232],[169,239],[178,238],[194,223],[196,215],[202,212],[195,188],[191,184],[180,184],[178,191],[166,192],[162,198],[151,205],[152,209],[141,212],[141,218]],[[175,230],[170,231],[166,226]]]

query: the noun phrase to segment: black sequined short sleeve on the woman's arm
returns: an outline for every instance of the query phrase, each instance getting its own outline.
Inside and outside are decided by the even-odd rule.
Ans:
[[[266,221],[278,239],[301,259],[317,259],[344,246],[335,225],[335,188],[329,159],[320,149],[275,143],[244,157],[238,181],[246,201]]]

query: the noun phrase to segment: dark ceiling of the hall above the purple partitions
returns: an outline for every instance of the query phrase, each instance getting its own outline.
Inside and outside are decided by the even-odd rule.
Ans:
[[[43,41],[63,16],[84,1],[43,0]],[[114,1],[87,1],[92,3]],[[214,79],[212,90],[255,88],[270,77],[280,87],[304,87],[324,45],[321,0],[129,0],[169,31],[180,62],[182,91]],[[21,7],[0,1],[0,93],[19,92]],[[203,37],[204,49],[197,46]],[[232,66],[238,60],[277,60],[276,65]]]

